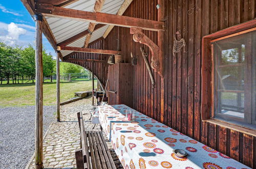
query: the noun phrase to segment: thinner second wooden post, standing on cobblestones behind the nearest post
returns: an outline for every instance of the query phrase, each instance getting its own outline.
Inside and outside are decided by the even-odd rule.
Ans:
[[[59,55],[60,52],[57,51],[56,57],[56,89],[57,89],[57,121],[60,121],[60,90],[59,90]]]

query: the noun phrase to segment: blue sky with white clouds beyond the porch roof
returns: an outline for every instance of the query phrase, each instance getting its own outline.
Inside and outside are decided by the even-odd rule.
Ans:
[[[9,46],[34,46],[35,22],[20,0],[0,0],[0,41]],[[42,44],[47,53],[56,53],[43,35]]]

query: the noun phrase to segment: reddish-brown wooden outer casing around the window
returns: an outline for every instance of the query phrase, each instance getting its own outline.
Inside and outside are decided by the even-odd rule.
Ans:
[[[256,19],[250,20],[249,22],[242,23],[240,25],[236,25],[216,33],[212,33],[206,35],[202,39],[202,82],[201,82],[201,91],[202,91],[202,103],[201,103],[201,118],[202,121],[210,122],[212,119],[227,122],[227,125],[236,124],[238,126],[251,128],[250,125],[237,124],[236,121],[225,121],[225,119],[219,119],[215,117],[215,97],[214,97],[214,57],[213,57],[213,46],[211,45],[213,40],[221,40],[224,38],[236,36],[239,34],[243,34],[246,32],[253,31],[251,29],[256,30]],[[254,51],[255,52],[255,51]],[[254,72],[252,72],[254,73]],[[254,82],[255,84],[255,82]],[[253,97],[255,99],[255,97]],[[252,100],[252,104],[255,100]],[[251,104],[251,105],[252,105]],[[246,105],[245,105],[246,106]],[[252,108],[252,111],[255,108]],[[236,120],[236,119],[234,119]],[[252,126],[252,130],[255,131],[254,125]]]

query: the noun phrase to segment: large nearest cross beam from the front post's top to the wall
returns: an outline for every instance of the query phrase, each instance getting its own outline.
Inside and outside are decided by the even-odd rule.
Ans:
[[[45,16],[81,20],[105,25],[115,25],[120,27],[136,27],[144,30],[161,31],[164,30],[164,22],[141,19],[129,16],[119,16],[101,12],[87,12],[75,9],[55,7],[52,4],[35,4],[35,11]]]

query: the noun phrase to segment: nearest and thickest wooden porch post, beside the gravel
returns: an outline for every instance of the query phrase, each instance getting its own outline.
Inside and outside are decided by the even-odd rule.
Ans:
[[[35,168],[43,168],[42,163],[42,15],[35,14]]]

